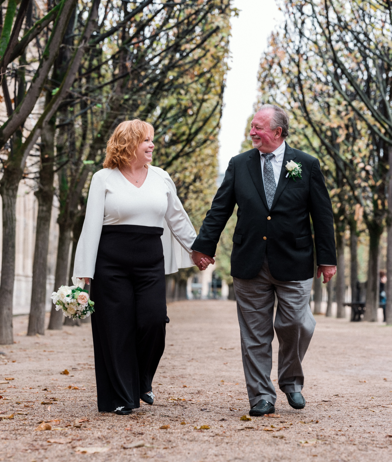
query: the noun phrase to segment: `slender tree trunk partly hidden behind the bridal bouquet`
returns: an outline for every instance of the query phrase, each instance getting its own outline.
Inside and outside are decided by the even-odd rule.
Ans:
[[[66,224],[60,225],[59,246],[57,249],[57,262],[56,273],[54,277],[54,290],[57,291],[60,286],[66,285],[68,282],[68,260],[69,260],[69,246],[71,244],[71,228]],[[63,324],[62,310],[56,310],[52,306],[50,312],[50,321],[48,329],[61,330]]]

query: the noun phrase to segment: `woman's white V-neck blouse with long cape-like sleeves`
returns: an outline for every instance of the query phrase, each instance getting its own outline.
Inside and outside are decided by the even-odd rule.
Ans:
[[[194,265],[190,254],[196,232],[177,197],[169,174],[149,166],[145,182],[136,188],[118,168],[103,169],[91,179],[83,230],[76,248],[73,275],[94,277],[103,225],[163,228],[165,274]]]

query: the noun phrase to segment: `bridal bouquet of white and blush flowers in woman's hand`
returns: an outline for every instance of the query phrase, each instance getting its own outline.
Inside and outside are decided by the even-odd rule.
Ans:
[[[56,305],[56,310],[63,310],[64,316],[73,319],[84,319],[94,312],[94,302],[89,298],[89,292],[84,289],[84,278],[72,277],[74,286],[61,286],[50,297]]]

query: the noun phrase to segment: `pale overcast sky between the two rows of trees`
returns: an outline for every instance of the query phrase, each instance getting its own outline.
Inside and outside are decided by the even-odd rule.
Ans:
[[[241,11],[237,18],[231,18],[231,70],[226,80],[219,133],[221,173],[240,152],[247,118],[256,101],[260,56],[271,31],[283,18],[274,0],[234,0],[233,6]]]

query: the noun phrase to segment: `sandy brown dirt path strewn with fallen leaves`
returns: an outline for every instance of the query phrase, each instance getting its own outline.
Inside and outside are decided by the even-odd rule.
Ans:
[[[130,416],[97,411],[90,324],[27,337],[27,316],[15,317],[15,344],[0,347],[0,460],[392,461],[392,327],[317,316],[306,408],[278,391],[276,417],[244,421],[235,302],[176,302],[168,314],[156,405]],[[273,349],[276,382],[276,339]],[[36,431],[42,421],[51,430]]]

